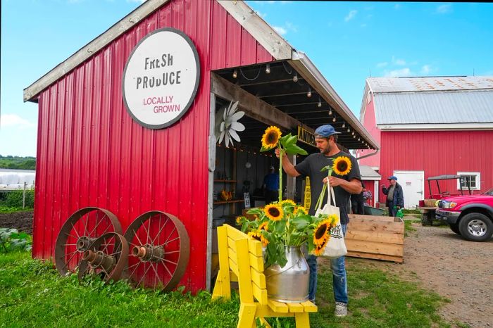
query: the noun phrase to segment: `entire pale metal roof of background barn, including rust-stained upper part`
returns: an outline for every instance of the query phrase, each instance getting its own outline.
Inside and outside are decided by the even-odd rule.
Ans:
[[[373,93],[381,130],[493,129],[493,76],[371,77],[366,82],[365,95]]]

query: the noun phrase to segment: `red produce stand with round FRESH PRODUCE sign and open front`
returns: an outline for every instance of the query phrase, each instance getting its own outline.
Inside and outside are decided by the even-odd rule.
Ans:
[[[145,1],[27,87],[24,99],[39,103],[33,256],[53,259],[61,227],[81,208],[113,213],[123,232],[143,213],[161,211],[188,233],[180,284],[191,291],[211,286],[216,222],[241,213],[244,193],[261,186],[277,160],[258,152],[266,127],[298,134],[312,152],[313,130],[323,124],[342,132],[348,149],[379,147],[308,57],[243,1]],[[227,115],[216,112],[235,101],[246,129],[235,146],[223,146],[215,129]],[[288,194],[301,195],[300,186],[289,180]],[[75,224],[83,232],[66,234],[82,250],[82,237],[98,232],[102,219],[90,232],[89,220]],[[160,256],[151,250],[149,265],[130,274],[146,285],[167,275],[152,266],[175,240],[175,221],[163,222],[133,231],[146,238],[140,246],[154,247],[170,229],[153,248]],[[131,255],[146,256],[139,249]],[[66,257],[63,269],[77,264]]]

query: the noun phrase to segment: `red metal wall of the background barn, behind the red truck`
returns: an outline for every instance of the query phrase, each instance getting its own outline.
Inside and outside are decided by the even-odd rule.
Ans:
[[[428,177],[480,172],[481,191],[486,191],[493,187],[492,140],[493,131],[382,132],[380,175],[385,179],[394,170],[424,170],[425,198],[429,198]],[[456,193],[457,182],[440,182],[440,189]],[[385,201],[381,189],[380,201]]]

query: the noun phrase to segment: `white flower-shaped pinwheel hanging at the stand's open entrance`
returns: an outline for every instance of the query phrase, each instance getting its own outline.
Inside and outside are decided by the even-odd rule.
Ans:
[[[233,145],[233,139],[236,141],[241,141],[237,132],[245,130],[245,126],[238,122],[240,118],[245,115],[242,111],[237,111],[238,101],[233,103],[231,101],[229,106],[221,106],[218,113],[216,113],[216,139],[218,139],[218,144],[225,140],[226,146],[230,143]]]

